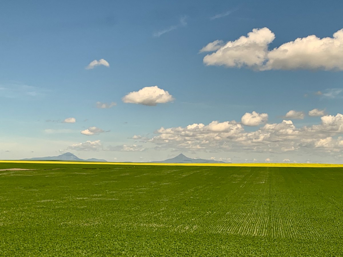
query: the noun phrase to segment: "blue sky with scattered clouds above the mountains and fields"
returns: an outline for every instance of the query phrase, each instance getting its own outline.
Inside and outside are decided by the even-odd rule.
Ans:
[[[342,1],[3,1],[0,159],[343,163]]]

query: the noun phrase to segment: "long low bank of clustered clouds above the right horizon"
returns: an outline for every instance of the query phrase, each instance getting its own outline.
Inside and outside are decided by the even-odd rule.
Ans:
[[[320,124],[299,128],[291,120],[266,123],[252,131],[245,131],[236,121],[212,121],[185,127],[161,127],[155,134],[144,142],[153,144],[156,150],[256,152],[269,156],[285,152],[323,156],[325,152],[338,158],[343,151],[343,114],[323,115]]]

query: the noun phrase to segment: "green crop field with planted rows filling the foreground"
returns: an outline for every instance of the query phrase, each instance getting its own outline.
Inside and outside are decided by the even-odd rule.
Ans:
[[[1,256],[342,256],[343,169],[0,163]]]

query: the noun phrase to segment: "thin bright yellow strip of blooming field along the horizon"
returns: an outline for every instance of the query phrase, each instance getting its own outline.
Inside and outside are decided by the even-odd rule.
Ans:
[[[151,166],[214,166],[214,167],[308,167],[343,168],[343,164],[330,163],[152,163],[152,162],[82,162],[82,161],[14,161],[0,160],[0,163],[44,163],[44,164],[107,164],[107,165],[151,165]]]

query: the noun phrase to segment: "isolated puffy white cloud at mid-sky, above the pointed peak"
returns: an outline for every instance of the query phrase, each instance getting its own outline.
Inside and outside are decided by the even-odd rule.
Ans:
[[[138,91],[133,91],[122,98],[125,103],[135,103],[147,106],[155,106],[157,103],[173,101],[172,95],[157,86],[143,87]]]

